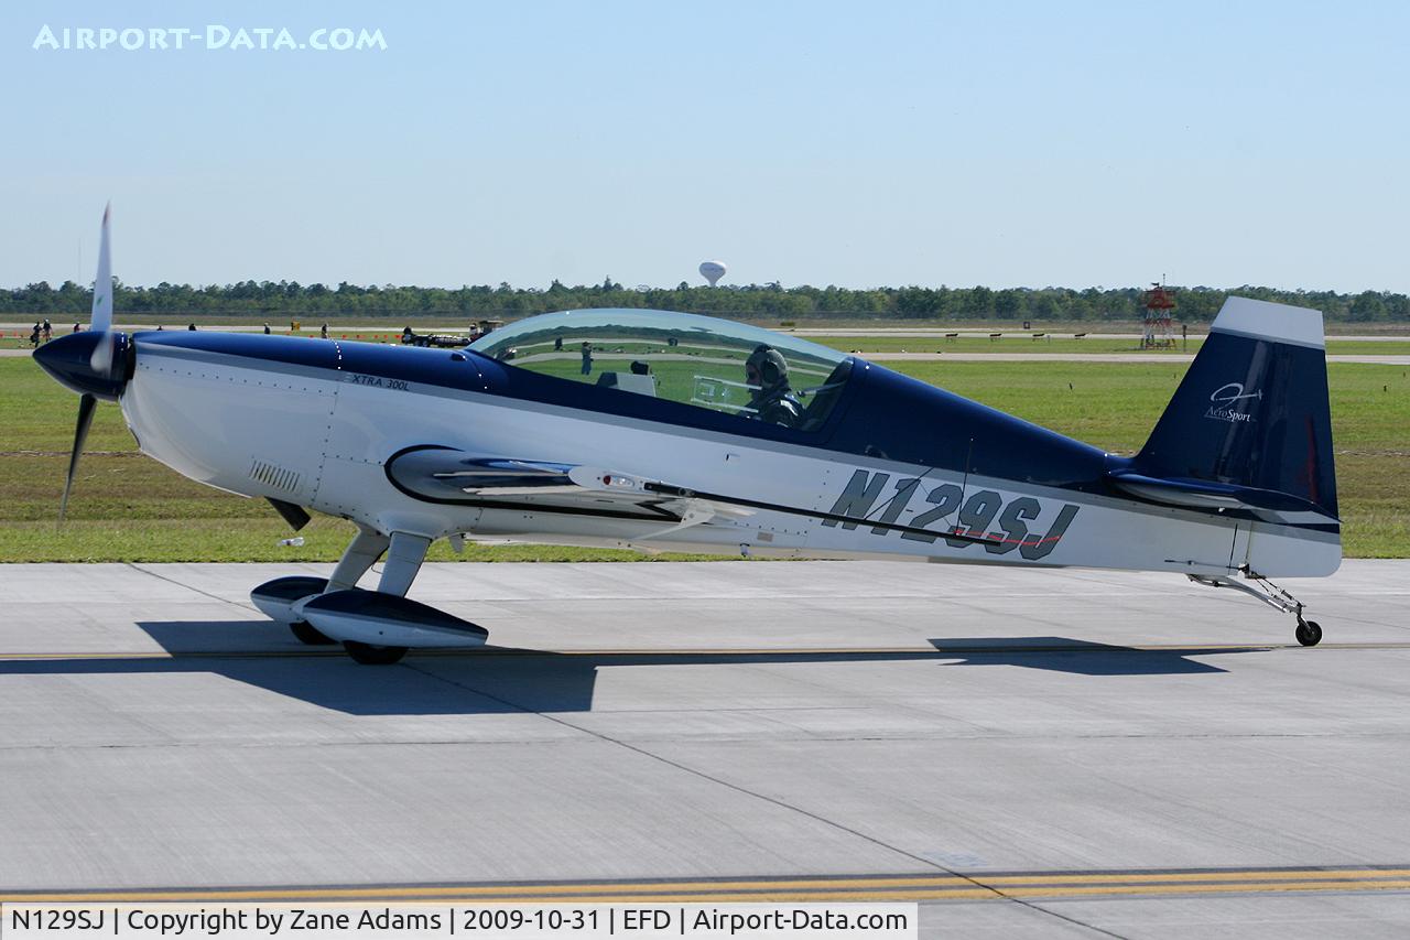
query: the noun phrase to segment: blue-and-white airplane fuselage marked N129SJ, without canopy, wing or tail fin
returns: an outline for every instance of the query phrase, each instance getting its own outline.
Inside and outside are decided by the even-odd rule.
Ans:
[[[1121,457],[860,360],[828,423],[805,433],[471,350],[212,332],[134,342],[120,401],[145,453],[379,532],[1190,574],[1228,574],[1253,553],[1282,574],[1340,559],[1320,532],[1117,494],[1105,474]],[[429,501],[386,471],[426,446],[603,467],[752,508],[666,531],[608,505]],[[946,538],[956,532],[987,543]]]

